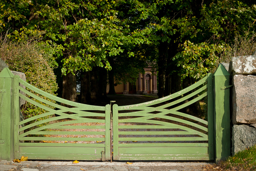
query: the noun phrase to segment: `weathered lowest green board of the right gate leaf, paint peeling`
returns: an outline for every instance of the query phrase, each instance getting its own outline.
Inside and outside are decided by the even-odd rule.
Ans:
[[[119,160],[209,160],[208,154],[119,154]]]

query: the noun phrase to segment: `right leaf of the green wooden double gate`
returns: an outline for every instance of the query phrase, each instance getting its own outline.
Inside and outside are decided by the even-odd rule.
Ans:
[[[181,112],[208,96],[207,116],[208,121],[213,121],[212,87],[209,73],[164,98],[129,106],[113,105],[114,160],[213,160],[213,122]],[[194,96],[197,97],[189,100]],[[185,100],[188,101],[182,103]]]

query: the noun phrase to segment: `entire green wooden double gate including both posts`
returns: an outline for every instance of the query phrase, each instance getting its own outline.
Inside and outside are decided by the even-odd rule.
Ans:
[[[111,160],[112,145],[114,160],[224,159],[230,155],[229,74],[222,65],[215,74],[161,99],[114,104],[111,120],[110,105],[58,98],[5,68],[0,73],[0,160],[23,155],[40,160]],[[184,112],[206,97],[208,122]],[[43,112],[21,119],[20,98]]]

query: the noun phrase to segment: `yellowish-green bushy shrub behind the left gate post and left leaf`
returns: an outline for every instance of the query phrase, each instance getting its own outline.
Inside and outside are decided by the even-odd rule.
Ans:
[[[53,73],[51,63],[49,61],[49,59],[51,59],[51,55],[45,51],[45,49],[49,48],[48,45],[44,46],[44,44],[38,41],[30,41],[29,43],[24,43],[22,41],[12,42],[8,38],[5,38],[4,40],[2,39],[2,41],[0,41],[0,45],[0,57],[9,65],[10,70],[24,72],[26,75],[26,81],[29,84],[47,93],[56,95],[54,92],[57,91],[58,86],[56,83],[56,76]],[[35,93],[28,88],[27,90]],[[41,98],[47,99],[37,93],[35,94]],[[31,99],[35,100],[33,98]],[[55,102],[50,99],[47,100]],[[38,100],[35,101],[43,104]],[[46,104],[43,105],[53,108]],[[21,112],[24,115],[24,118],[27,119],[47,111],[26,101],[26,103],[21,107]],[[49,117],[51,116],[41,117],[27,124],[44,120]],[[40,127],[42,125],[44,124],[37,126]]]

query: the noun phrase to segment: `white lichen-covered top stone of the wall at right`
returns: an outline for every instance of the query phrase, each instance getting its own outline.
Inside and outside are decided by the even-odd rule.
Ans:
[[[256,56],[238,56],[231,58],[231,71],[233,75],[255,75],[256,74]]]

